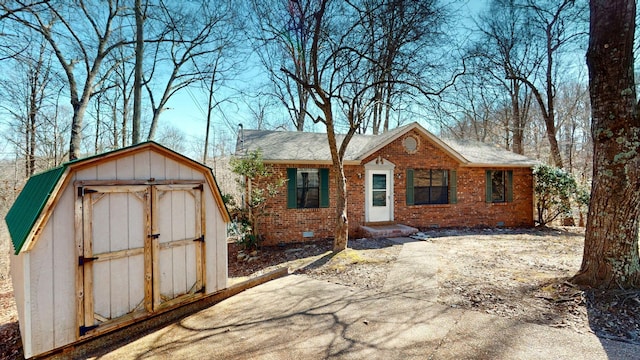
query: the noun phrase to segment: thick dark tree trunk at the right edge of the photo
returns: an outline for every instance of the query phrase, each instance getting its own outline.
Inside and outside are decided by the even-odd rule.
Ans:
[[[591,0],[587,65],[594,166],[584,255],[574,281],[640,285],[640,121],[633,74],[634,0]]]

